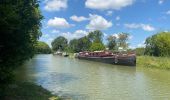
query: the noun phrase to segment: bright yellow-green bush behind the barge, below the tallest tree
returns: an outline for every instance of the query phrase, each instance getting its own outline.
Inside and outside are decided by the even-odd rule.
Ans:
[[[105,50],[105,46],[102,43],[92,43],[90,51],[100,51]]]

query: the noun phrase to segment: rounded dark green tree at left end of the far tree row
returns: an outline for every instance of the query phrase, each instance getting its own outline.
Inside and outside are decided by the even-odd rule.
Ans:
[[[65,51],[67,48],[67,39],[63,36],[59,36],[56,39],[54,39],[51,43],[52,49],[54,51],[60,50],[60,51]]]

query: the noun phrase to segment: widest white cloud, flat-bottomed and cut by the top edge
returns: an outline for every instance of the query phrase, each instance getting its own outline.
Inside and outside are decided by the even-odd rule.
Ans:
[[[99,10],[120,10],[123,7],[132,5],[135,0],[86,0],[85,5],[91,9]]]

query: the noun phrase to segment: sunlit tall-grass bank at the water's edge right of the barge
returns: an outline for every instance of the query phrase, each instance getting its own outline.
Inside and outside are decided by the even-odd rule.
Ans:
[[[152,57],[138,56],[137,66],[159,69],[170,69],[170,58],[168,57]]]

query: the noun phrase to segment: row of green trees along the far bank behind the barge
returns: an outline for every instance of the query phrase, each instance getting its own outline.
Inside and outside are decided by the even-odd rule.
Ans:
[[[110,35],[107,38],[107,44],[103,43],[103,33],[99,30],[91,31],[87,36],[79,39],[72,39],[68,41],[65,37],[59,36],[55,38],[51,45],[53,51],[65,52],[81,52],[81,51],[99,51],[109,50],[117,51],[120,47],[128,49],[129,34],[120,33],[117,36]]]

